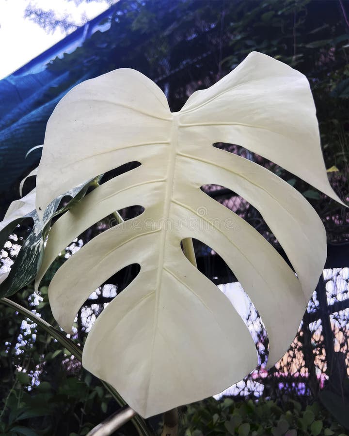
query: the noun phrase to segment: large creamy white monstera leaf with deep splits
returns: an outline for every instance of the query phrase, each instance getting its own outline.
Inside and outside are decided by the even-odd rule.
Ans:
[[[98,317],[83,365],[108,381],[143,417],[216,394],[256,366],[247,327],[226,296],[184,256],[197,238],[219,253],[259,311],[269,364],[286,352],[326,258],[324,227],[310,204],[275,174],[215,142],[242,145],[330,197],[315,106],[306,78],[251,53],[215,85],[172,113],[159,87],[119,69],[66,94],[47,125],[37,178],[38,213],[57,195],[130,161],[141,166],[97,187],[53,225],[36,280],[77,235],[113,211],[141,216],[96,236],[51,281],[60,325],[121,268],[139,275]],[[236,214],[200,187],[228,187],[253,204],[294,271]]]

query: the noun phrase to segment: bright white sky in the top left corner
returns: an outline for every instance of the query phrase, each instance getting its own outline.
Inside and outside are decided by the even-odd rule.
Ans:
[[[77,25],[81,24],[81,16],[92,19],[109,7],[108,2],[103,0],[81,2],[79,5],[74,0],[0,0],[0,79],[66,36],[60,29],[47,33],[39,25],[24,18],[29,3],[44,10],[53,9],[57,16],[68,13]]]

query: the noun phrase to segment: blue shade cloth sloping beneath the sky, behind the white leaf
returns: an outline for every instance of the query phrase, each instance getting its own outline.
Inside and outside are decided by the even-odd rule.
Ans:
[[[95,69],[87,74],[81,70],[79,76],[76,71],[71,74],[49,66],[57,57],[82,47],[96,31],[108,30],[114,9],[115,5],[0,80],[0,191],[12,191],[14,185],[18,189],[20,178],[37,164],[40,150],[27,159],[25,156],[33,146],[43,143],[48,118],[63,95],[79,82],[98,75]]]

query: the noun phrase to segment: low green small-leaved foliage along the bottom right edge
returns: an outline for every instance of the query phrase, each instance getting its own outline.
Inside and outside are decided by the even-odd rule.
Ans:
[[[180,436],[318,436],[345,435],[318,403],[305,408],[296,401],[235,402],[213,398],[187,407],[181,417]]]

